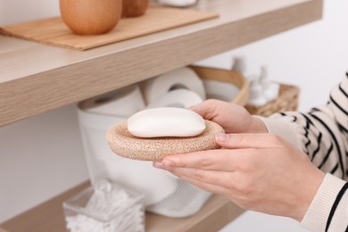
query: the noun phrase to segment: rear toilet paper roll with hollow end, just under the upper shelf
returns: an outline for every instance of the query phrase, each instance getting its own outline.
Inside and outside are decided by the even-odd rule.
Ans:
[[[153,79],[145,80],[141,84],[146,104],[151,104],[160,96],[178,88],[186,88],[197,93],[205,100],[205,90],[203,81],[198,77],[194,70],[180,68],[164,73]]]

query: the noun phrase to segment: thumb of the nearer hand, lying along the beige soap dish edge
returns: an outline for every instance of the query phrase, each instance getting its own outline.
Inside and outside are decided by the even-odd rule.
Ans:
[[[265,148],[277,146],[280,138],[272,134],[217,134],[215,141],[224,148]]]

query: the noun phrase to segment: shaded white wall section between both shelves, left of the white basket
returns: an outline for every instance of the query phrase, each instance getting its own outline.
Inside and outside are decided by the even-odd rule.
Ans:
[[[74,106],[0,128],[0,221],[87,180]]]

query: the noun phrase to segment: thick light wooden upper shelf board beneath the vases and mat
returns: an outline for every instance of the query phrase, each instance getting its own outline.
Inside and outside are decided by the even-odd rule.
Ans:
[[[322,0],[202,0],[220,18],[75,51],[0,36],[0,126],[321,18]]]

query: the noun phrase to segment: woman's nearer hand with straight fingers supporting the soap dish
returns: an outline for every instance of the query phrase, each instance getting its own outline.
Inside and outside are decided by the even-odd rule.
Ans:
[[[224,121],[211,112],[208,118]],[[220,134],[216,141],[222,149],[168,155],[153,166],[244,209],[302,220],[325,175],[305,154],[270,134]]]

